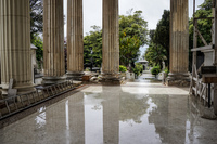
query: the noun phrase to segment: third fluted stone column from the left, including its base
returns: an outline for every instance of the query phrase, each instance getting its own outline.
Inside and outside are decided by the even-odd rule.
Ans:
[[[84,75],[82,0],[67,1],[67,78]]]

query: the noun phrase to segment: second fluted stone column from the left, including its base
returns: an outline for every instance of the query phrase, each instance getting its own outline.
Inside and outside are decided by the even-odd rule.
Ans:
[[[63,82],[65,77],[63,0],[43,1],[43,84]]]

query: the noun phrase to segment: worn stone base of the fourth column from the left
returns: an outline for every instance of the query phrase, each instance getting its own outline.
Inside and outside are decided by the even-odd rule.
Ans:
[[[102,79],[100,80],[102,84],[107,86],[119,86],[120,79],[119,74],[102,74]]]

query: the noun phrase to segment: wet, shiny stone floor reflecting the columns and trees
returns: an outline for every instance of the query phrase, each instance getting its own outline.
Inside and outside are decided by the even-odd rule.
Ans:
[[[1,144],[214,144],[217,120],[201,118],[188,88],[149,82],[85,86],[0,129]]]

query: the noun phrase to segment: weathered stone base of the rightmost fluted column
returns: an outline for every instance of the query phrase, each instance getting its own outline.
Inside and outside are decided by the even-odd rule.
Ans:
[[[189,74],[188,73],[183,73],[183,74],[169,73],[166,79],[166,86],[189,87],[190,86]]]

